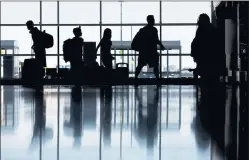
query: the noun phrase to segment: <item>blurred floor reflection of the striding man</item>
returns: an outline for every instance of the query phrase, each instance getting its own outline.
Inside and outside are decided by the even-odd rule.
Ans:
[[[135,91],[135,96],[138,101],[138,137],[146,139],[147,148],[153,149],[157,136],[159,89],[156,89],[152,102],[147,101],[145,113],[143,112],[145,108],[142,104],[142,95],[139,95],[138,89]],[[147,99],[150,98],[147,97]],[[142,139],[139,140],[140,143]]]

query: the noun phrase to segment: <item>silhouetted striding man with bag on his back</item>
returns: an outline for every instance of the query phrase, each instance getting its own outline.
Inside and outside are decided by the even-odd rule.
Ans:
[[[157,45],[160,45],[162,50],[164,50],[165,48],[158,38],[158,31],[156,27],[154,27],[154,16],[147,16],[147,22],[148,24],[145,27],[141,28],[137,35],[134,37],[134,40],[137,39],[137,42],[135,42],[134,40],[132,42],[137,43],[134,44],[134,46],[137,46],[136,48],[138,48],[137,50],[139,51],[138,66],[136,68],[135,78],[138,78],[138,75],[144,66],[149,65],[149,67],[153,67],[154,74],[158,79],[159,54],[157,52]]]

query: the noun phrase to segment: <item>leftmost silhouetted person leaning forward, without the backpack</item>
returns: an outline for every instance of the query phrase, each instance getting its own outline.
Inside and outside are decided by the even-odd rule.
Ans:
[[[45,75],[44,67],[47,66],[45,39],[43,38],[42,32],[37,27],[34,27],[33,21],[27,21],[26,25],[33,39],[32,49],[35,52],[35,59],[37,65],[36,78],[41,79]]]

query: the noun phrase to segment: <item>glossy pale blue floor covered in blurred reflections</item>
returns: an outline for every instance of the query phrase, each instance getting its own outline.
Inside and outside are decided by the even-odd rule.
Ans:
[[[2,86],[1,158],[220,159],[196,101],[194,86]]]

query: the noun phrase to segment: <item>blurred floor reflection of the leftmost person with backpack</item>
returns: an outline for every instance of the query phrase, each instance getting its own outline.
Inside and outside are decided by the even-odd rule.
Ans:
[[[43,92],[35,91],[35,124],[31,148],[53,138],[51,128],[46,128],[46,106],[44,105]],[[38,140],[39,137],[39,140]],[[44,138],[44,139],[43,139]]]

